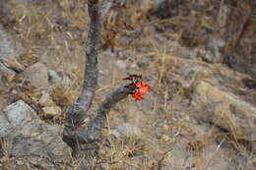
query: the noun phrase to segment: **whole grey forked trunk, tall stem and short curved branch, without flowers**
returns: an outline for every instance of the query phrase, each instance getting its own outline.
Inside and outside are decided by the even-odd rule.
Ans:
[[[81,143],[97,142],[100,131],[105,123],[106,114],[113,104],[134,92],[125,85],[118,87],[99,106],[95,120],[88,128],[81,128],[87,112],[92,105],[97,84],[97,54],[99,51],[101,29],[105,16],[111,7],[112,1],[105,0],[99,3],[97,0],[88,0],[88,11],[91,19],[89,37],[86,47],[86,66],[84,73],[84,85],[81,95],[70,107],[65,115],[63,141],[73,149],[73,156],[79,156]]]

